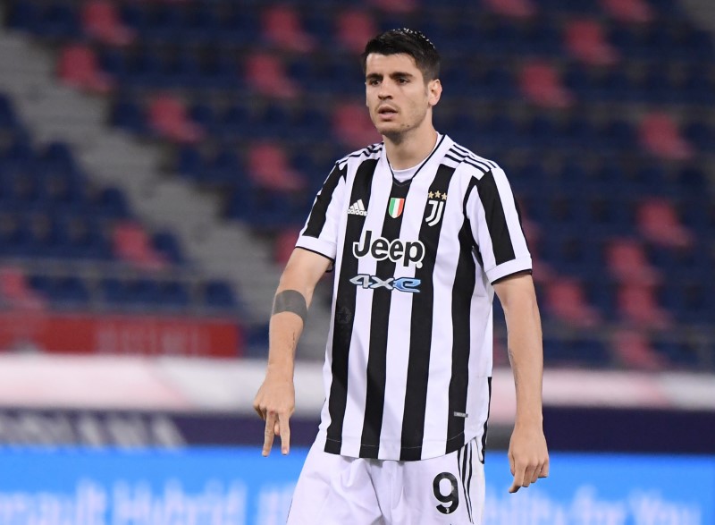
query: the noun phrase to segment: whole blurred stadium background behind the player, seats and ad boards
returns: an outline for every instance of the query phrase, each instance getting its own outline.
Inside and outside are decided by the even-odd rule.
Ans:
[[[554,467],[505,494],[497,301],[485,523],[715,523],[711,0],[4,0],[0,20],[0,524],[284,520],[332,275],[294,450],[264,460],[273,292],[332,163],[380,140],[358,55],[405,26],[442,55],[438,130],[505,169],[534,255]]]

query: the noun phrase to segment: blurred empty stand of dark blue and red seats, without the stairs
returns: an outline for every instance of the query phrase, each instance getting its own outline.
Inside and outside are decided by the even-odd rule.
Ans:
[[[162,148],[167,171],[265,235],[279,264],[332,163],[381,140],[366,40],[424,30],[443,57],[439,131],[499,162],[522,207],[547,365],[706,362],[687,334],[715,316],[715,53],[676,0],[13,0],[7,13],[60,50],[61,80],[104,93],[108,123]],[[31,292],[50,308],[240,309],[231,284],[182,273],[175,233],[91,181],[0,97],[0,258],[20,261]],[[67,261],[95,266],[71,275]]]

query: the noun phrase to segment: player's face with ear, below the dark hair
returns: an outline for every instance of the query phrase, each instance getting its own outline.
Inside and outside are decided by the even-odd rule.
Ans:
[[[442,93],[440,81],[425,84],[415,59],[404,54],[367,55],[365,86],[370,118],[377,131],[392,140],[425,123]]]

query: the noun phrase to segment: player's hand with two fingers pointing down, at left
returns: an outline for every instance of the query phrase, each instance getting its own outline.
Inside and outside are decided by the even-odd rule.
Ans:
[[[290,451],[289,419],[295,411],[295,388],[290,377],[274,376],[269,371],[258,389],[253,408],[265,420],[263,455],[271,453],[273,437],[281,437],[281,452]]]

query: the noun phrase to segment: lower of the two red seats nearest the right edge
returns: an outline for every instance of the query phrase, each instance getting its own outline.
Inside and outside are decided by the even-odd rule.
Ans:
[[[693,234],[680,223],[675,207],[667,199],[646,199],[638,207],[636,218],[640,232],[653,244],[669,248],[693,244]]]

